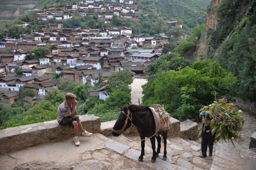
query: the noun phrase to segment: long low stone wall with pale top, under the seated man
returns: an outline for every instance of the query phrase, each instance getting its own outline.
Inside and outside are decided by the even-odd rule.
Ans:
[[[100,130],[100,118],[94,115],[80,115],[84,128],[90,132]],[[19,151],[42,143],[67,139],[74,135],[70,126],[60,126],[56,120],[0,130],[0,154]]]

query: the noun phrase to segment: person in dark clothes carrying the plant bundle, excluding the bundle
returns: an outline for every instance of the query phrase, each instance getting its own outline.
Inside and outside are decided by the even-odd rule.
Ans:
[[[212,156],[212,149],[214,148],[214,140],[215,135],[211,135],[211,127],[210,127],[210,117],[209,115],[206,115],[205,118],[205,112],[201,112],[200,115],[203,118],[203,126],[202,126],[202,133],[201,133],[201,152],[202,155],[201,158],[206,158],[206,152],[207,152],[207,145],[209,147],[209,156]]]

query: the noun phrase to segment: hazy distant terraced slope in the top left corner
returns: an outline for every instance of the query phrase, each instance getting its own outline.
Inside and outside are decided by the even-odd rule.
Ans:
[[[32,10],[40,0],[2,0],[0,1],[0,29]]]

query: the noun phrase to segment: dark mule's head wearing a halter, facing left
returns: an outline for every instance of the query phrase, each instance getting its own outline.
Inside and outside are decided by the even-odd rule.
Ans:
[[[119,136],[123,131],[130,128],[132,125],[132,122],[129,118],[127,118],[126,115],[129,114],[127,107],[119,107],[121,109],[121,112],[116,120],[116,123],[113,127],[113,130],[111,131],[113,136]],[[132,113],[129,114],[129,117],[131,118]],[[126,120],[127,119],[127,120]],[[125,120],[127,121],[127,124],[125,126]],[[125,126],[125,127],[124,127]]]

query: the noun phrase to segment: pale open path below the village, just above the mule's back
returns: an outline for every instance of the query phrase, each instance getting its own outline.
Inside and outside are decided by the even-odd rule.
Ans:
[[[140,99],[140,103],[142,101],[142,85],[146,84],[146,79],[134,79],[131,84],[132,92],[131,92],[131,103],[138,105],[138,99]]]

